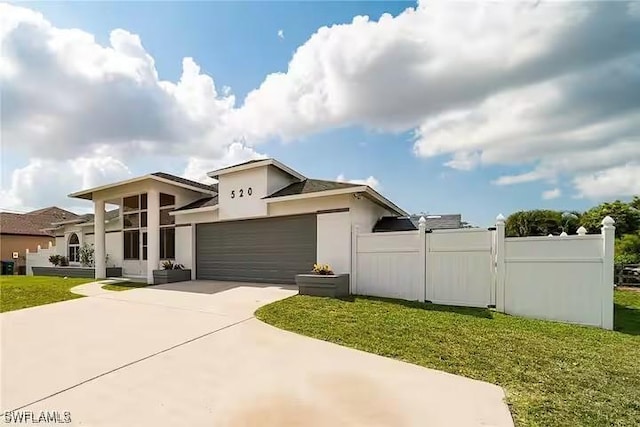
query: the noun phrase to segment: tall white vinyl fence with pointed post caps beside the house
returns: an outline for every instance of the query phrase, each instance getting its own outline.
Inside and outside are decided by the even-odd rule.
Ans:
[[[613,328],[613,220],[599,235],[495,228],[353,234],[352,293]]]

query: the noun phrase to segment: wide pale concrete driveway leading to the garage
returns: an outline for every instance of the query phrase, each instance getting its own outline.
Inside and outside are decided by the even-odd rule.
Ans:
[[[253,317],[290,287],[92,293],[0,315],[3,411],[68,411],[89,426],[512,425],[497,386]]]

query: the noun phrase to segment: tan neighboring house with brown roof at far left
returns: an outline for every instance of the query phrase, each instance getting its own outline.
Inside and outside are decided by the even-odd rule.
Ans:
[[[46,248],[49,242],[54,242],[54,236],[44,228],[50,227],[52,222],[77,218],[73,212],[51,206],[23,214],[0,212],[0,257],[3,261],[13,259],[14,253],[18,259],[13,259],[17,266],[24,265],[27,249],[36,251],[38,245]],[[17,271],[17,269],[16,269]]]

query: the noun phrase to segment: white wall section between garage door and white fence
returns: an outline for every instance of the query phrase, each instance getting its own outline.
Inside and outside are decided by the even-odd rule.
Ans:
[[[351,272],[351,217],[349,212],[318,214],[317,262],[334,273]]]

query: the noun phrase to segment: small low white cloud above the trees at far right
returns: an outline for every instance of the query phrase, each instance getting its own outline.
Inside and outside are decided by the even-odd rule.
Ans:
[[[600,199],[610,196],[640,195],[640,163],[616,166],[573,180],[578,197]]]

